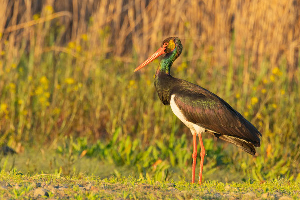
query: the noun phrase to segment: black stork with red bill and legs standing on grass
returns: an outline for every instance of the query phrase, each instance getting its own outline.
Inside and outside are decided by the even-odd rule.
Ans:
[[[254,146],[260,146],[259,136],[261,136],[261,133],[240,113],[214,93],[170,75],[171,66],[179,57],[181,51],[180,39],[169,37],[134,72],[160,55],[165,54],[155,74],[155,87],[162,103],[171,106],[174,114],[190,129],[193,135],[192,183],[195,181],[197,159],[196,136],[199,137],[201,145],[199,184],[201,184],[205,156],[202,140],[203,132],[208,132],[219,139],[230,142],[251,155],[255,155]]]

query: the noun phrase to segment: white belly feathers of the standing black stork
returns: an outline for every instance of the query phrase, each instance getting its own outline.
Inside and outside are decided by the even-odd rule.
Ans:
[[[180,119],[180,121],[182,121],[190,129],[192,134],[194,133],[201,134],[202,132],[205,132],[205,129],[203,127],[186,120],[182,111],[176,105],[174,98],[175,98],[175,94],[171,96],[170,106],[172,108],[172,111]]]

